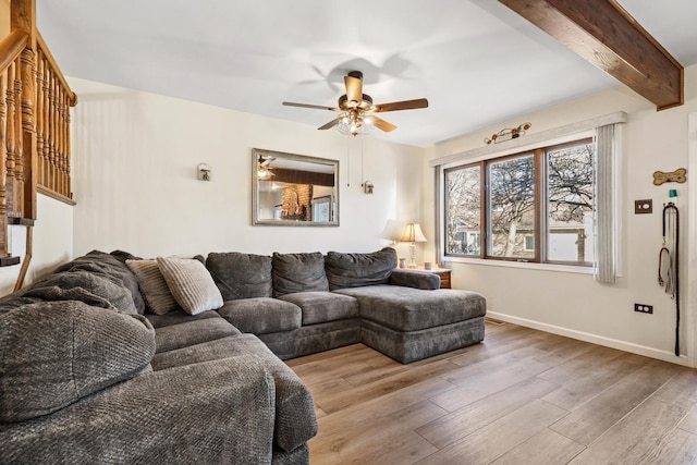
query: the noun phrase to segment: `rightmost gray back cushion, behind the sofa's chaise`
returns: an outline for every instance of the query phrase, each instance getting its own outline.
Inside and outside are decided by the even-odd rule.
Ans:
[[[396,250],[384,247],[370,254],[329,252],[325,257],[329,289],[386,284],[396,268]]]

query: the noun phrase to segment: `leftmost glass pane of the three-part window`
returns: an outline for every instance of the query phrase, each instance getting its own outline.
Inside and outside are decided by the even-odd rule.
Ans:
[[[479,255],[479,166],[445,171],[445,254]]]

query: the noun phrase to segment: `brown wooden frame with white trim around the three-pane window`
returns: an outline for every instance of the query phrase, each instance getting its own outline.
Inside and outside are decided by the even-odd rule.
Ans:
[[[564,140],[549,140],[548,143],[542,143],[536,147],[519,147],[515,151],[503,154],[499,152],[492,155],[490,157],[476,160],[476,161],[461,161],[456,163],[451,163],[448,167],[443,167],[441,170],[442,183],[445,187],[447,175],[449,172],[467,169],[472,167],[479,167],[480,174],[480,222],[479,222],[479,240],[480,247],[479,254],[454,254],[448,252],[448,193],[447,189],[443,188],[441,191],[441,199],[442,199],[442,211],[441,211],[441,240],[443,241],[443,247],[441,249],[442,259],[444,261],[473,261],[473,262],[481,262],[486,265],[494,265],[497,262],[503,264],[529,264],[533,266],[552,266],[552,267],[570,267],[570,271],[578,272],[590,272],[592,269],[592,261],[570,261],[570,260],[553,260],[549,259],[549,193],[548,193],[548,170],[547,166],[549,163],[548,152],[560,150],[566,147],[574,147],[579,145],[591,145],[595,144],[595,137],[588,133],[586,134],[575,134],[572,137],[565,138]],[[534,224],[535,231],[533,234],[533,241],[535,243],[535,252],[533,258],[525,257],[501,257],[493,256],[490,253],[489,247],[489,236],[491,234],[490,227],[490,189],[489,189],[489,167],[492,163],[498,161],[523,157],[523,156],[533,156],[534,163]],[[595,157],[595,147],[594,147],[594,157]],[[594,163],[594,184],[596,180],[596,168]],[[595,212],[595,195],[594,195],[594,207],[592,210]],[[527,234],[526,234],[527,235]],[[525,238],[524,238],[525,241]],[[525,245],[525,244],[524,244]]]

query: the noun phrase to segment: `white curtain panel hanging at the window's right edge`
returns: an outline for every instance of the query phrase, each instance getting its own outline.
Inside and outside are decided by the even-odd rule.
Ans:
[[[616,151],[614,124],[597,127],[594,277],[602,283],[614,283],[616,280]]]

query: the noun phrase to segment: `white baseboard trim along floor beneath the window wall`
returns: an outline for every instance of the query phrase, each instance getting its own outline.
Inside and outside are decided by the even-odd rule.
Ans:
[[[689,366],[687,357],[681,355],[676,357],[675,354],[669,351],[659,351],[658,348],[647,347],[646,345],[634,344],[632,342],[620,341],[612,338],[606,338],[598,334],[591,334],[589,332],[576,331],[568,328],[562,328],[554,325],[548,325],[540,321],[528,320],[526,318],[518,318],[511,315],[500,314],[497,311],[487,311],[487,317],[506,321],[513,325],[518,325],[526,328],[533,328],[545,332],[551,332],[552,334],[564,335],[566,338],[577,339],[579,341],[590,342],[592,344],[604,345],[606,347],[617,348],[620,351],[629,352],[632,354],[644,355],[646,357],[657,358],[659,360],[669,362],[671,364]],[[485,336],[486,340],[486,336]]]

